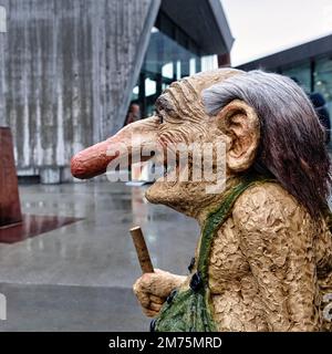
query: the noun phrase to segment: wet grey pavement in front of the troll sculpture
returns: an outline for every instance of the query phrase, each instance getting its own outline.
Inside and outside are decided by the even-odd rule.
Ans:
[[[195,220],[144,198],[146,187],[89,181],[21,186],[25,215],[81,219],[46,233],[0,243],[0,331],[146,331],[133,295],[141,270],[128,233],[139,225],[155,268],[187,273]]]

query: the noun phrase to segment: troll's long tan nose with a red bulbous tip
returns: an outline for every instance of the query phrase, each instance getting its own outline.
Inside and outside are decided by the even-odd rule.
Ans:
[[[148,159],[149,157],[142,156],[142,152],[156,149],[158,126],[158,117],[138,121],[125,126],[105,142],[80,152],[71,160],[72,175],[80,179],[102,175],[113,159],[121,158],[125,153],[128,154],[126,156],[128,164],[133,154],[139,155],[141,160]],[[124,147],[126,147],[125,152]]]

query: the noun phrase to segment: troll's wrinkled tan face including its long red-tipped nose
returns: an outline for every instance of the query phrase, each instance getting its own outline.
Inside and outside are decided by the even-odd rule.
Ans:
[[[215,197],[207,192],[207,186],[211,186],[211,178],[219,175],[218,168],[222,163],[225,173],[227,157],[231,154],[242,156],[242,150],[248,149],[242,140],[237,143],[232,139],[236,135],[245,136],[243,132],[248,131],[241,123],[246,107],[230,105],[225,113],[227,119],[211,117],[207,115],[201,97],[205,88],[238,73],[230,69],[217,70],[173,83],[156,101],[153,117],[132,123],[107,140],[79,153],[72,159],[72,174],[77,178],[91,178],[104,173],[115,157],[121,159],[124,150],[131,152],[131,157],[144,156],[142,160],[149,158],[146,150],[153,150],[155,162],[162,163],[168,173],[147,190],[147,199],[195,216]],[[224,121],[234,122],[234,128],[224,126]],[[258,127],[253,128],[258,131]],[[179,146],[180,149],[187,147],[184,155],[179,153]],[[110,149],[116,152],[113,157],[106,154]],[[199,173],[205,166],[203,160],[207,160],[211,168],[207,175],[204,171],[197,176],[197,169]],[[238,164],[237,158],[232,160]],[[127,164],[131,164],[131,158]],[[226,174],[231,175],[227,166]]]

